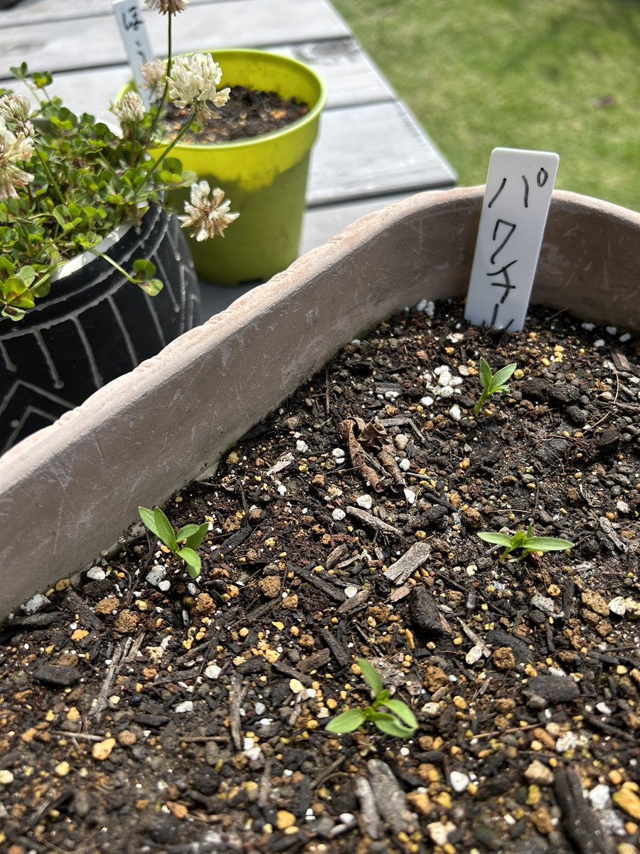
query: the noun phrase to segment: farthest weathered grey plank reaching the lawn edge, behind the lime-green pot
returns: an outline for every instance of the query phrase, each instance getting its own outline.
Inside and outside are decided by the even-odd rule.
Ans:
[[[166,50],[166,19],[147,10],[154,50]],[[189,8],[174,26],[176,52],[213,47],[265,47],[295,44],[349,34],[343,20],[325,0],[218,0]],[[125,49],[113,15],[52,20],[0,28],[0,77],[9,67],[26,63],[34,71],[119,65]]]

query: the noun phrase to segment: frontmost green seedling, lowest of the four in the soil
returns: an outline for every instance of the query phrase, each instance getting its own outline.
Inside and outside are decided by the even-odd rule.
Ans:
[[[395,735],[401,739],[409,739],[418,728],[416,716],[410,707],[401,699],[391,699],[391,694],[382,687],[380,674],[372,664],[364,658],[358,658],[358,667],[362,670],[364,681],[374,695],[374,701],[364,709],[349,709],[329,721],[326,729],[329,733],[352,733],[364,722],[370,721],[387,735]],[[378,711],[384,706],[388,711]]]

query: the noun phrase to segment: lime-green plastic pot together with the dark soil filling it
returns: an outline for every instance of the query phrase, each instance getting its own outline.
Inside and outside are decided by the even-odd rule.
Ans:
[[[171,15],[168,20],[171,26]],[[309,158],[326,87],[311,67],[265,50],[212,50],[150,62],[142,73],[160,117],[156,135],[166,137],[153,155],[161,155],[184,121],[176,109],[166,116],[167,92],[182,105],[172,78],[195,62],[214,69],[224,97],[215,100],[215,113],[201,114],[194,132],[185,135],[183,128],[174,153],[199,179],[224,186],[241,213],[224,242],[202,245],[201,233],[190,235],[195,269],[216,284],[265,281],[298,254]],[[174,196],[178,204],[188,202],[185,190],[174,190]]]

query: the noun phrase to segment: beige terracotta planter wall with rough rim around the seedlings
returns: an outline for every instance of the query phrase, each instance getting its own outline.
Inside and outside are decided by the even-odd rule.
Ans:
[[[463,295],[481,187],[413,196],[351,225],[4,458],[2,611],[79,570],[214,465],[359,331]],[[533,301],[640,330],[640,215],[556,192]],[[28,548],[28,559],[25,559]]]

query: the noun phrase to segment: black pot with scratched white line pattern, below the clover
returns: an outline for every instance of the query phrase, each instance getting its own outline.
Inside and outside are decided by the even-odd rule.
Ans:
[[[108,255],[125,270],[151,260],[164,288],[150,297],[92,257],[24,320],[0,320],[0,453],[200,323],[200,286],[175,217],[152,208]]]

